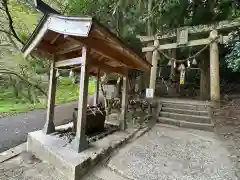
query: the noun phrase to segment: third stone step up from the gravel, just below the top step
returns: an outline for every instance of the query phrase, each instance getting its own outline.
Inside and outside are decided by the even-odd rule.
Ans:
[[[193,111],[193,110],[187,110],[187,109],[176,109],[176,108],[168,108],[168,107],[162,107],[162,111],[178,113],[178,114],[196,115],[196,116],[208,116],[207,111]]]

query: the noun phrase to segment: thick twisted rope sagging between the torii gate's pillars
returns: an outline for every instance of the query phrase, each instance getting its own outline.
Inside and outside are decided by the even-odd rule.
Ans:
[[[212,39],[210,41],[209,44],[206,44],[201,50],[199,50],[197,53],[195,53],[194,55],[186,58],[186,59],[183,59],[183,60],[178,60],[178,59],[175,59],[173,57],[170,57],[168,56],[167,54],[165,54],[163,51],[161,51],[159,49],[160,45],[156,46],[153,51],[158,51],[160,54],[162,54],[165,58],[167,58],[168,60],[174,60],[175,62],[186,62],[186,61],[189,61],[190,59],[194,59],[196,58],[197,56],[199,56],[203,51],[205,51],[212,43],[214,43],[215,41],[217,41],[219,39],[220,36],[217,36],[216,38]]]

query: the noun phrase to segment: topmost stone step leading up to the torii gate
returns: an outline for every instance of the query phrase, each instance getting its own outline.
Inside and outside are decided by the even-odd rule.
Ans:
[[[174,109],[184,109],[193,111],[208,111],[208,106],[206,104],[186,104],[186,103],[171,103],[163,102],[163,107],[174,108]]]

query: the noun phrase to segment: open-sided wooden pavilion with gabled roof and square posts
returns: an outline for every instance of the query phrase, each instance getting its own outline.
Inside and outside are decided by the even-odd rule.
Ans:
[[[117,36],[91,17],[45,15],[23,47],[22,52],[25,57],[37,53],[40,56],[48,57],[51,62],[47,117],[43,129],[45,134],[55,131],[53,120],[56,70],[72,68],[80,72],[77,131],[72,142],[72,147],[76,152],[87,148],[85,124],[89,76],[94,75],[99,78],[100,70],[123,76],[121,121],[125,128],[128,69],[150,71],[151,67],[150,63],[128,49]]]

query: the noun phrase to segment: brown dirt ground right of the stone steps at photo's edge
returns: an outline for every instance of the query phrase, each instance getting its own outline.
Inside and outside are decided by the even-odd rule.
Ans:
[[[214,116],[216,133],[230,152],[240,179],[240,99],[224,102]]]

